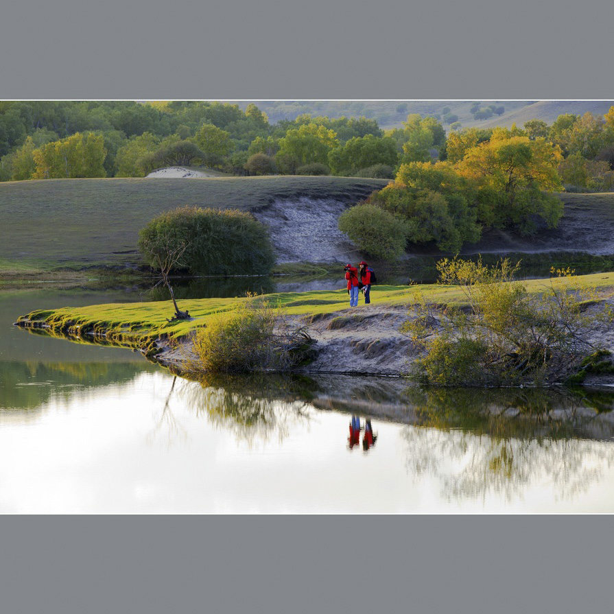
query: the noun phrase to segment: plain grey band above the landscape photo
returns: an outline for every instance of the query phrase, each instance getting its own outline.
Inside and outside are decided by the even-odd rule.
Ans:
[[[611,99],[607,0],[21,0],[1,93],[49,99]]]

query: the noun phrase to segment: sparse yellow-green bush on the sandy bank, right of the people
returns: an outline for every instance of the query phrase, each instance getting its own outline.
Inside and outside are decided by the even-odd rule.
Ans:
[[[595,292],[578,288],[573,272],[552,270],[541,293],[515,281],[519,263],[488,267],[460,259],[437,264],[440,283],[456,285],[466,309],[417,296],[404,330],[421,349],[412,377],[436,386],[544,385],[565,381],[597,350],[590,333],[612,319],[606,307],[585,308]]]

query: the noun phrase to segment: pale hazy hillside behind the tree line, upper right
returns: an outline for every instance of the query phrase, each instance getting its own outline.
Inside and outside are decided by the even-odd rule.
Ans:
[[[410,113],[426,115],[440,115],[445,128],[449,125],[443,120],[444,111],[449,108],[449,113],[458,116],[462,128],[477,126],[480,128],[493,128],[494,126],[506,126],[512,124],[521,127],[530,119],[541,119],[546,123],[552,123],[559,115],[574,113],[584,115],[591,112],[595,115],[604,115],[614,100],[605,101],[577,101],[577,100],[254,100],[228,101],[238,104],[245,109],[250,102],[254,102],[263,110],[271,122],[280,119],[296,119],[303,113],[318,116],[325,115],[331,119],[338,117],[368,117],[377,120],[380,128],[401,128]],[[491,104],[504,107],[504,113],[493,115],[489,119],[478,121],[473,119],[471,106],[479,102],[480,106],[486,107]]]

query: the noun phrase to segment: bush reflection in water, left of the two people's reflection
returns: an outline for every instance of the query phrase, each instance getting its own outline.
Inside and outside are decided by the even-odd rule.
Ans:
[[[180,394],[216,427],[231,429],[252,444],[276,434],[283,440],[290,426],[306,425],[307,378],[281,375],[206,375],[187,383]]]

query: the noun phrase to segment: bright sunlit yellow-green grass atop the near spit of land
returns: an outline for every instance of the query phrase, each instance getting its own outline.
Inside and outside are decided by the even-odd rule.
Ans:
[[[545,290],[547,279],[526,281],[529,292]],[[605,294],[614,290],[614,273],[598,273],[578,276],[567,281],[573,287],[598,288]],[[374,286],[371,289],[373,305],[410,305],[415,302],[415,293],[420,290],[434,303],[460,305],[464,295],[458,286],[420,285],[420,286]],[[262,296],[254,298],[201,298],[180,301],[181,309],[188,309],[194,318],[190,322],[167,322],[173,314],[172,303],[128,303],[93,305],[91,307],[65,307],[63,309],[38,310],[28,314],[24,319],[34,322],[46,322],[56,333],[76,334],[85,327],[89,331],[106,333],[107,338],[123,346],[144,346],[161,335],[168,338],[180,338],[189,334],[196,327],[206,324],[214,314],[231,311],[246,300],[263,300]],[[340,309],[349,309],[346,290],[319,290],[315,292],[287,292],[265,295],[265,300],[283,308],[285,313],[293,316],[313,316],[330,314]],[[69,330],[72,329],[72,330]]]

